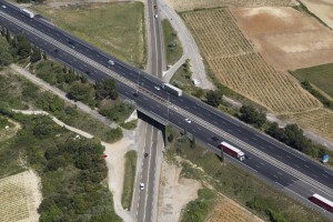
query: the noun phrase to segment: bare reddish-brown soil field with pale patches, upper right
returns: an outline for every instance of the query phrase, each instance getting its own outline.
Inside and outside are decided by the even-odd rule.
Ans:
[[[233,8],[242,32],[278,70],[333,62],[333,32],[293,8]]]

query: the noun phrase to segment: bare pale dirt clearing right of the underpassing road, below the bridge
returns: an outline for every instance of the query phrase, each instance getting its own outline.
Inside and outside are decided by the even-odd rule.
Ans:
[[[181,168],[162,161],[158,221],[179,221],[181,210],[198,198],[200,182],[180,176]]]

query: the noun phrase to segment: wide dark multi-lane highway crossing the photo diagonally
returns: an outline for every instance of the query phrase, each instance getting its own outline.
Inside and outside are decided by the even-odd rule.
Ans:
[[[88,74],[92,80],[114,78],[119,92],[135,101],[138,109],[150,117],[179,129],[186,128],[196,141],[213,152],[219,152],[220,141],[240,148],[249,159],[244,162],[233,159],[231,161],[272,182],[312,208],[320,210],[307,200],[313,193],[333,200],[333,172],[321,163],[190,95],[178,98],[164,90],[155,90],[155,85],[161,85],[161,80],[59,30],[40,17],[30,19],[20,13],[18,8],[2,0],[0,4],[7,6],[6,9],[0,8],[1,26],[8,27],[13,33],[23,32],[49,56]],[[110,59],[114,61],[114,65],[108,65]],[[185,118],[192,122],[188,123],[184,121]],[[220,141],[213,141],[214,135]]]

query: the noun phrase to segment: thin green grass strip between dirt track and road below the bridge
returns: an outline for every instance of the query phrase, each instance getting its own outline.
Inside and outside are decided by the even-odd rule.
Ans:
[[[133,198],[133,185],[135,181],[137,171],[137,151],[129,151],[125,154],[125,171],[123,180],[123,190],[121,196],[121,204],[123,209],[131,209],[132,198]]]

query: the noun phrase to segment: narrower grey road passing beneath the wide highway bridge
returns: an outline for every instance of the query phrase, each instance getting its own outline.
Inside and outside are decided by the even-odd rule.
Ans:
[[[162,77],[162,44],[160,34],[160,20],[154,18],[158,14],[158,7],[155,0],[147,1],[149,32],[150,34],[150,48],[151,48],[151,73],[158,78]],[[142,160],[140,182],[145,184],[145,189],[140,191],[138,204],[134,203],[134,212],[137,218],[134,221],[154,222],[157,221],[158,214],[158,196],[159,196],[159,184],[160,184],[160,168],[161,168],[161,155],[163,149],[163,139],[161,135],[159,124],[154,121],[143,117],[144,120],[150,123],[147,125],[145,144],[143,147],[143,153],[148,153],[148,157]],[[139,181],[138,181],[139,182]],[[139,184],[137,184],[139,188]],[[138,192],[134,191],[134,192]],[[134,199],[135,200],[135,199]]]

